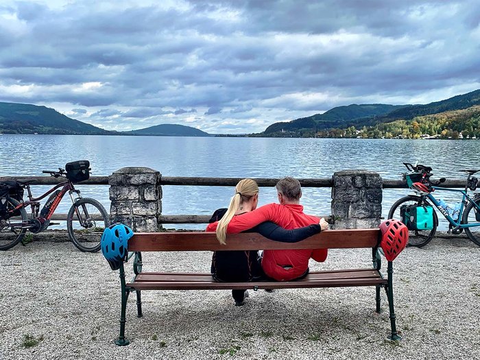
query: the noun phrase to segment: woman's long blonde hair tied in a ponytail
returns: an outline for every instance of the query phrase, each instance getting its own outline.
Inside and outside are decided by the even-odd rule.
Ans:
[[[250,199],[250,197],[259,193],[259,186],[252,179],[243,179],[240,180],[237,186],[235,187],[235,195],[232,196],[230,204],[228,205],[227,212],[225,215],[218,221],[217,224],[217,239],[222,245],[226,244],[227,238],[227,227],[230,223],[230,220],[233,218],[239,206],[243,201]]]

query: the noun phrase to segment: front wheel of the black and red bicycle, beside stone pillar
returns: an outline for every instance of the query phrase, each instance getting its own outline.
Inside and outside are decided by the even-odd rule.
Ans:
[[[85,197],[77,200],[67,215],[69,237],[83,252],[100,250],[101,234],[110,226],[110,217],[97,200]]]

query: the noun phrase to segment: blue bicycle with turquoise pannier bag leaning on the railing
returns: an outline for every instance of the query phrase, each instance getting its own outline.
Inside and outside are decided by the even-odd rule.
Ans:
[[[430,177],[433,175],[431,167],[410,163],[403,163],[403,165],[409,170],[409,173],[404,174],[405,180],[416,194],[397,200],[390,208],[388,218],[400,219],[404,223],[408,223],[406,224],[409,228],[408,245],[421,248],[433,239],[438,226],[438,211],[448,221],[448,233],[461,234],[465,231],[468,238],[480,246],[480,193],[474,193],[472,196],[468,194],[468,190],[475,191],[477,189],[478,179],[473,175],[480,170],[461,170],[468,176],[465,188],[460,190],[438,187],[437,185],[442,184],[446,179],[431,180]],[[456,211],[448,208],[443,200],[435,198],[433,196],[435,191],[461,193],[461,202],[456,206]],[[429,217],[429,219],[422,220],[421,226],[410,223],[410,215],[413,213],[411,209],[415,208],[423,209],[420,211],[420,215],[424,216],[423,213],[426,213]],[[437,208],[437,211],[434,211],[434,208]]]

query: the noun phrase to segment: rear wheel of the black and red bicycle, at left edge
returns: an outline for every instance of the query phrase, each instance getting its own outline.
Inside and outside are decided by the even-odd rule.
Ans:
[[[17,200],[7,197],[5,203],[6,210],[12,210],[19,204],[20,203]],[[10,218],[1,217],[0,219],[0,250],[13,248],[17,243],[22,241],[25,232],[27,232],[26,228],[21,228],[21,226],[25,225],[28,221],[27,212],[25,211],[25,208],[20,208],[18,212],[19,215],[17,216]]]

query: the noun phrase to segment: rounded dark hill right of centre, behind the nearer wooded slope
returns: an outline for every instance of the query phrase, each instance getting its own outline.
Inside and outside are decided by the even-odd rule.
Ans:
[[[386,115],[405,105],[388,104],[352,104],[348,106],[337,106],[323,114],[316,114],[311,117],[303,117],[289,122],[274,123],[265,129],[265,134],[278,132],[297,132],[300,130],[324,130],[328,128],[347,128],[356,122],[357,119],[371,119],[379,115]]]

